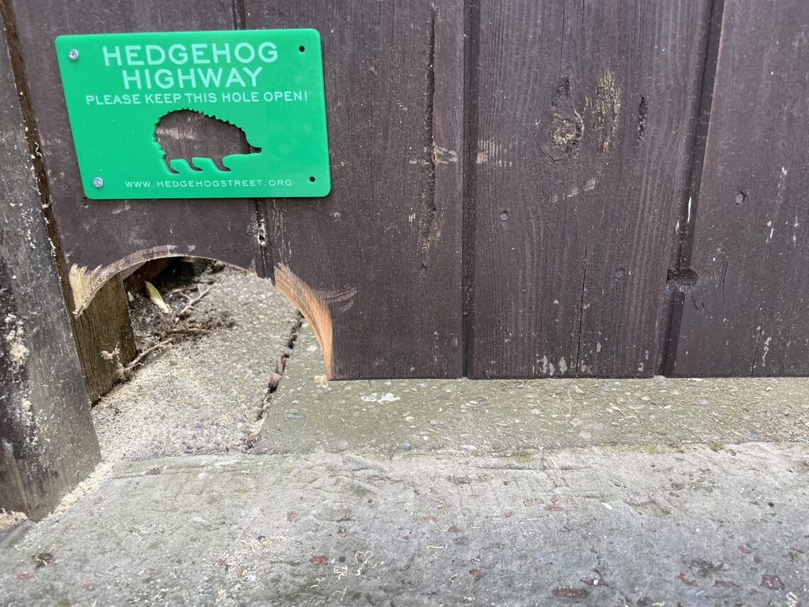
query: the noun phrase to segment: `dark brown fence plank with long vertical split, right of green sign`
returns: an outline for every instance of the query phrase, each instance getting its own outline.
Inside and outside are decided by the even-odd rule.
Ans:
[[[328,308],[332,378],[462,375],[462,2],[247,0],[244,18],[323,40],[332,193],[265,208],[276,276]]]

